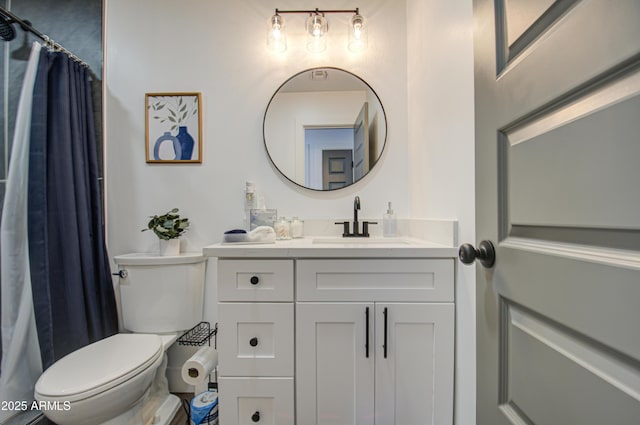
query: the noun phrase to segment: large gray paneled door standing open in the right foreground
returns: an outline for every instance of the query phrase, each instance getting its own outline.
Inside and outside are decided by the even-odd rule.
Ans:
[[[640,1],[474,0],[477,424],[640,423]]]

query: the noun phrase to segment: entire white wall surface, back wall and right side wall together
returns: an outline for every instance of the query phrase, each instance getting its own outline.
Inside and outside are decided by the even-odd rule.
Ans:
[[[321,4],[320,4],[321,3]],[[369,48],[346,48],[349,15],[329,15],[327,51],[304,48],[304,16],[286,16],[288,50],[267,51],[275,8],[360,7]],[[243,188],[256,183],[267,207],[303,219],[363,218],[392,201],[400,218],[459,221],[474,240],[471,0],[105,0],[107,241],[111,255],[150,251],[148,215],[179,207],[192,221],[183,249],[218,242],[242,226]],[[408,54],[407,51],[411,53]],[[293,74],[336,66],[380,97],[388,139],[373,171],[334,192],[301,189],[269,163],[262,118],[273,92]],[[145,163],[144,95],[201,92],[201,165]],[[208,270],[211,284],[212,264]],[[471,269],[457,273],[456,424],[475,423],[475,293]],[[207,313],[215,320],[215,312]]]

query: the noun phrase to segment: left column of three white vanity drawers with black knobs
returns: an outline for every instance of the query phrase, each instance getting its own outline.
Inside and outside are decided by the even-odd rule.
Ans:
[[[220,259],[218,301],[220,423],[293,425],[293,260]]]

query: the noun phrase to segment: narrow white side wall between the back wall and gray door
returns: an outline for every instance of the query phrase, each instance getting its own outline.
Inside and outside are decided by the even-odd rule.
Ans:
[[[409,215],[475,240],[471,0],[408,0]],[[456,424],[475,423],[475,269],[456,270]]]

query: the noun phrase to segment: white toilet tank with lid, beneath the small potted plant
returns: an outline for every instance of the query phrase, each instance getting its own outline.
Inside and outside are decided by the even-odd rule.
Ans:
[[[138,333],[184,331],[202,320],[205,257],[199,253],[161,257],[114,257],[124,329]]]

